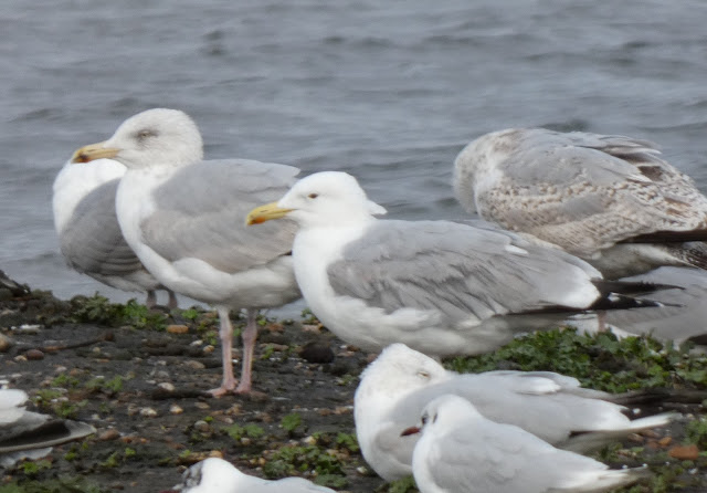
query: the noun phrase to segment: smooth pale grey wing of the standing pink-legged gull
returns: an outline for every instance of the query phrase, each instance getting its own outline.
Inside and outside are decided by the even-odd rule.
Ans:
[[[295,223],[246,228],[256,206],[279,199],[297,168],[245,159],[187,167],[154,191],[155,212],[140,224],[144,241],[161,256],[196,258],[229,273],[289,253]]]

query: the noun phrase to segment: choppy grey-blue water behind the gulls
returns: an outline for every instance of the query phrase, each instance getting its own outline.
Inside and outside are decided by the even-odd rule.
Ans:
[[[0,7],[0,269],[33,287],[129,297],[64,265],[51,185],[156,106],[208,158],[347,170],[393,217],[460,217],[454,157],[510,126],[648,138],[707,189],[701,0],[145,3]]]

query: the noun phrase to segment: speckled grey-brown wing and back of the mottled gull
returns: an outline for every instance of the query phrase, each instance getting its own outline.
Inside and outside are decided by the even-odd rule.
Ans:
[[[705,228],[707,199],[651,143],[540,128],[490,136],[505,144],[489,159],[500,178],[476,187],[476,204],[506,228],[580,255],[657,231]]]

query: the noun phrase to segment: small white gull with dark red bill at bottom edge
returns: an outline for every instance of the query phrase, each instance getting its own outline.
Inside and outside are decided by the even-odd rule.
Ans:
[[[650,475],[645,468],[609,470],[556,449],[513,424],[484,418],[466,399],[445,395],[422,412],[412,472],[422,493],[599,493]]]

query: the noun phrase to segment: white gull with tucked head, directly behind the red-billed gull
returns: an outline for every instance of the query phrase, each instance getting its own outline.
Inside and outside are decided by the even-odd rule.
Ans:
[[[404,344],[388,346],[361,376],[354,399],[356,436],[366,462],[386,481],[412,473],[418,434],[401,432],[436,397],[453,394],[484,417],[551,443],[585,453],[630,433],[668,424],[676,413],[630,420],[613,403],[622,395],[580,387],[550,371],[487,371],[460,375]]]

